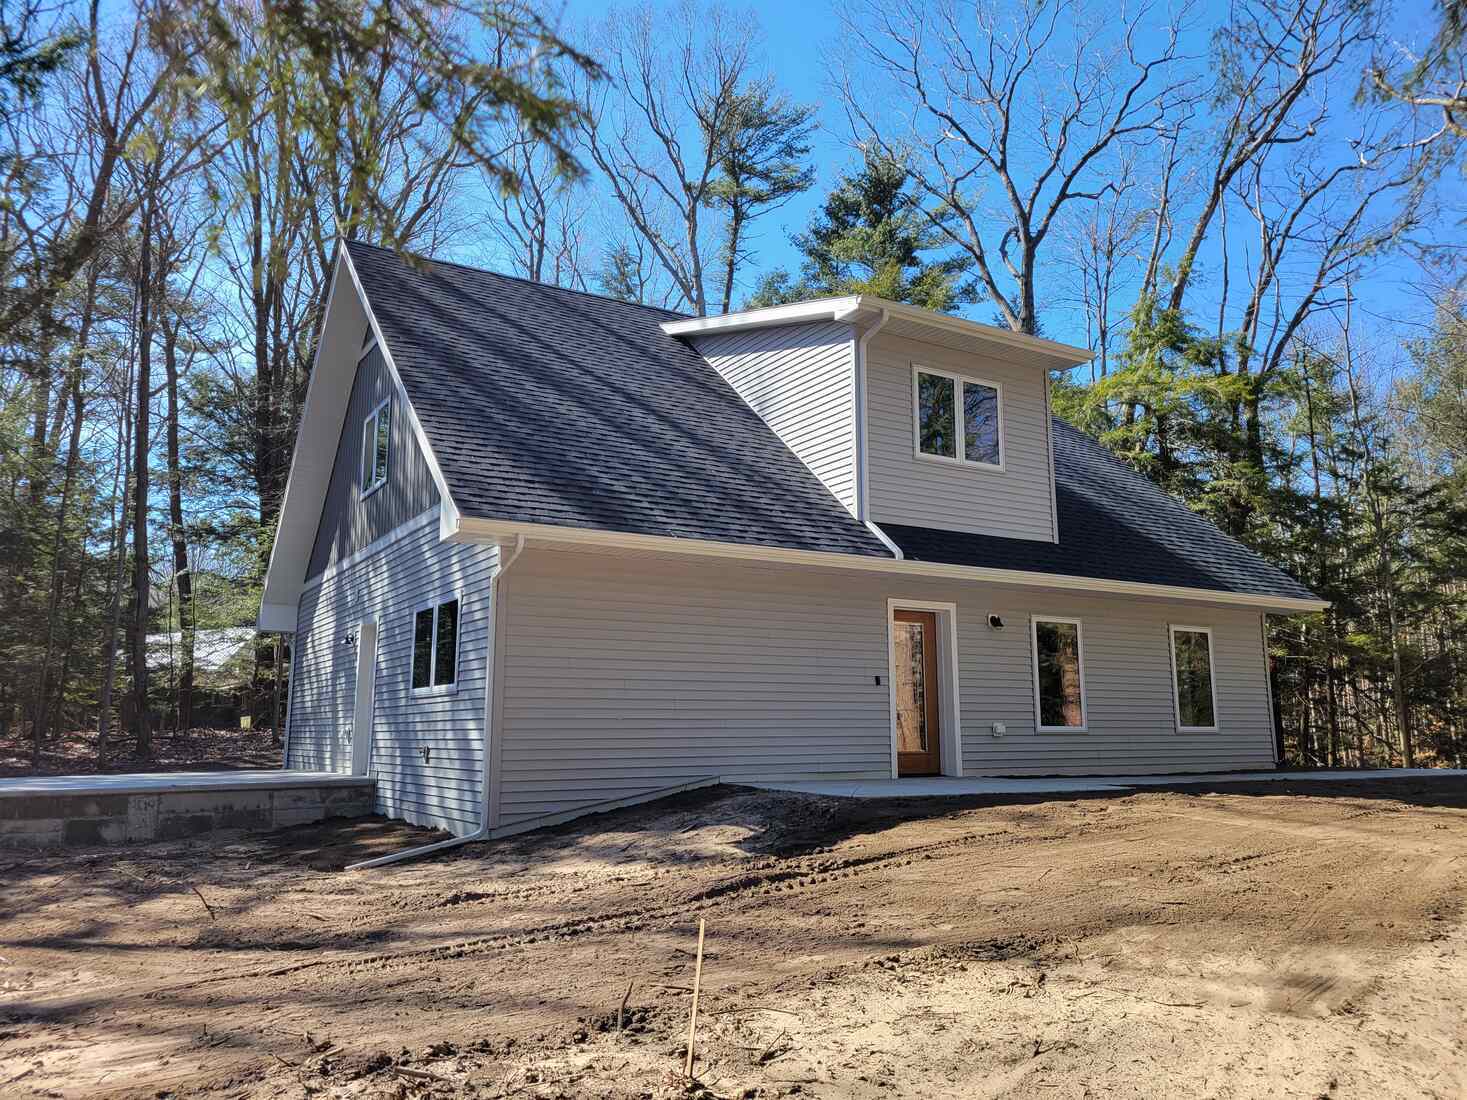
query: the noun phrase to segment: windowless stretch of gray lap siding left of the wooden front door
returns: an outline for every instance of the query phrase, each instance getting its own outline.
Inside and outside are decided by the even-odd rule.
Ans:
[[[499,824],[706,776],[889,776],[886,606],[849,585],[527,551],[508,575]]]

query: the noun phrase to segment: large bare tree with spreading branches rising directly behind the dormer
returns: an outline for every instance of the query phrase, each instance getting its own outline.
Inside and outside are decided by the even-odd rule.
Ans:
[[[1003,321],[1037,331],[1058,220],[1112,194],[1116,158],[1157,144],[1196,94],[1179,19],[1146,4],[868,0],[844,23],[835,78],[852,136],[910,166]]]

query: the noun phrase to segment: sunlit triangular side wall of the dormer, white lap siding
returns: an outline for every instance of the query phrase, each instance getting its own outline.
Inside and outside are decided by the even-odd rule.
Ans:
[[[791,324],[692,345],[835,499],[855,512],[855,359],[848,324]]]

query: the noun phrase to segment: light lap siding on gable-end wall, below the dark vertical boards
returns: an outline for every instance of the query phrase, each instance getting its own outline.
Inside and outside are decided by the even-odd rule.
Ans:
[[[362,620],[376,619],[368,774],[377,779],[377,813],[456,835],[478,827],[489,582],[497,563],[496,549],[442,543],[437,524],[428,522],[308,588],[301,597],[286,767],[351,771],[356,651],[343,639]],[[455,594],[458,689],[414,698],[414,610]]]

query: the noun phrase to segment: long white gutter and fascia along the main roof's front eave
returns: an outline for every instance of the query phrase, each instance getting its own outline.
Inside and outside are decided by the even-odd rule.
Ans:
[[[1094,576],[1067,576],[1062,573],[1037,573],[1022,569],[990,569],[971,565],[914,562],[911,559],[866,557],[863,554],[838,554],[819,550],[786,550],[783,547],[751,546],[744,543],[714,543],[701,538],[670,538],[663,535],[599,531],[579,527],[555,527],[552,524],[519,524],[513,521],[475,519],[472,516],[465,516],[462,519],[459,529],[449,541],[493,543],[500,538],[519,535],[537,540],[543,546],[559,544],[566,547],[603,547],[615,550],[643,550],[648,553],[681,553],[701,557],[729,557],[748,562],[804,565],[823,569],[855,569],[864,572],[898,573],[902,576],[940,576],[952,581],[983,581],[987,584],[1015,585],[1021,588],[1061,588],[1093,593],[1097,595],[1144,595],[1157,600],[1187,600],[1188,603],[1260,607],[1279,615],[1322,612],[1329,607],[1328,600],[1303,600],[1287,595],[1222,593],[1212,588],[1185,588],[1169,584],[1106,581]]]

